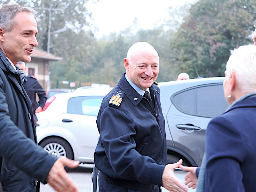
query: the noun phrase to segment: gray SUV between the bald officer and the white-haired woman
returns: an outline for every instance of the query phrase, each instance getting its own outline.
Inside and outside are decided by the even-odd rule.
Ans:
[[[167,163],[200,166],[209,121],[227,108],[224,77],[159,83],[168,148]]]

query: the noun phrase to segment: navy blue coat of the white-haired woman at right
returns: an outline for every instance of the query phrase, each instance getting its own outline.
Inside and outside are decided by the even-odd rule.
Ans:
[[[239,101],[209,123],[205,192],[256,191],[256,97]]]

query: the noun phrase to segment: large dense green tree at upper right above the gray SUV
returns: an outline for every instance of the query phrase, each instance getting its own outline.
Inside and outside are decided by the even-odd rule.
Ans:
[[[180,70],[196,77],[223,76],[229,50],[251,44],[254,0],[200,0],[176,32],[171,47]]]

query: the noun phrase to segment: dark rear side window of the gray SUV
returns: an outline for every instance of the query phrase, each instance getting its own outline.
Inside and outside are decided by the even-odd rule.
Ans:
[[[228,103],[223,85],[204,85],[184,90],[172,97],[174,106],[183,113],[213,118],[225,112]]]

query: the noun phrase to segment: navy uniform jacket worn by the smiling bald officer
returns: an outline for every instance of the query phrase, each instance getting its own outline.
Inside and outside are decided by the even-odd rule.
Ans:
[[[101,103],[97,117],[100,139],[94,163],[116,185],[152,191],[156,185],[162,185],[167,158],[159,88],[155,84],[149,88],[156,107],[153,111],[148,100],[132,88],[124,75]],[[111,104],[112,96],[118,93],[123,98],[119,107]]]

